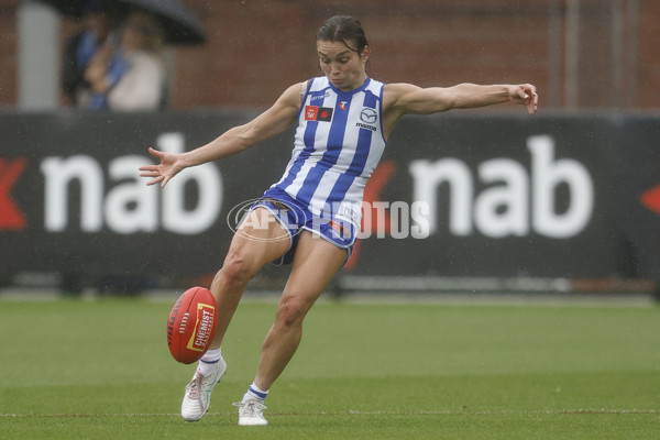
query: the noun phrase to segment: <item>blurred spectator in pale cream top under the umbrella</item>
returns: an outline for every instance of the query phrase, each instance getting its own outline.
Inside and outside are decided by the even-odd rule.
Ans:
[[[119,47],[105,44],[85,73],[88,107],[97,110],[156,110],[164,102],[163,30],[146,12],[131,12]]]

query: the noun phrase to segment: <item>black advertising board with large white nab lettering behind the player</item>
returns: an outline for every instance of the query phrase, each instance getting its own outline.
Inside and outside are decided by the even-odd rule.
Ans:
[[[2,114],[0,277],[213,273],[238,206],[276,182],[293,131],[189,168],[138,168],[254,113]],[[328,116],[331,118],[331,116]],[[365,188],[360,275],[642,277],[659,272],[658,118],[410,117]]]

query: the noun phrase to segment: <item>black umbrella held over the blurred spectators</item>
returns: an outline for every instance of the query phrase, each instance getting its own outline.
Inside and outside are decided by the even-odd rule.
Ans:
[[[51,4],[65,15],[82,16],[89,0],[38,0]],[[202,24],[178,0],[106,0],[118,13],[136,7],[154,14],[163,26],[167,44],[201,44],[206,42]]]

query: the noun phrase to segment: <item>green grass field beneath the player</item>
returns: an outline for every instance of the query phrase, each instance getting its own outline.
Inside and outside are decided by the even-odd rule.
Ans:
[[[172,302],[175,298],[172,298]],[[209,414],[178,415],[172,304],[0,301],[0,439],[660,438],[657,307],[320,302],[266,402],[238,427],[274,305],[239,308]]]

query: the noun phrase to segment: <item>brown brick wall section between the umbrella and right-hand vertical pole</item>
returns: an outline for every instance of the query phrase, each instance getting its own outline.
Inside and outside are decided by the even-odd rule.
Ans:
[[[320,74],[314,36],[337,13],[359,16],[372,48],[370,74],[387,82],[547,82],[546,1],[188,1],[209,30],[204,48],[176,54],[176,106],[266,106]],[[328,6],[329,4],[329,6]],[[499,4],[497,7],[493,4]],[[504,6],[503,6],[504,4]],[[196,85],[202,85],[196,87]]]

